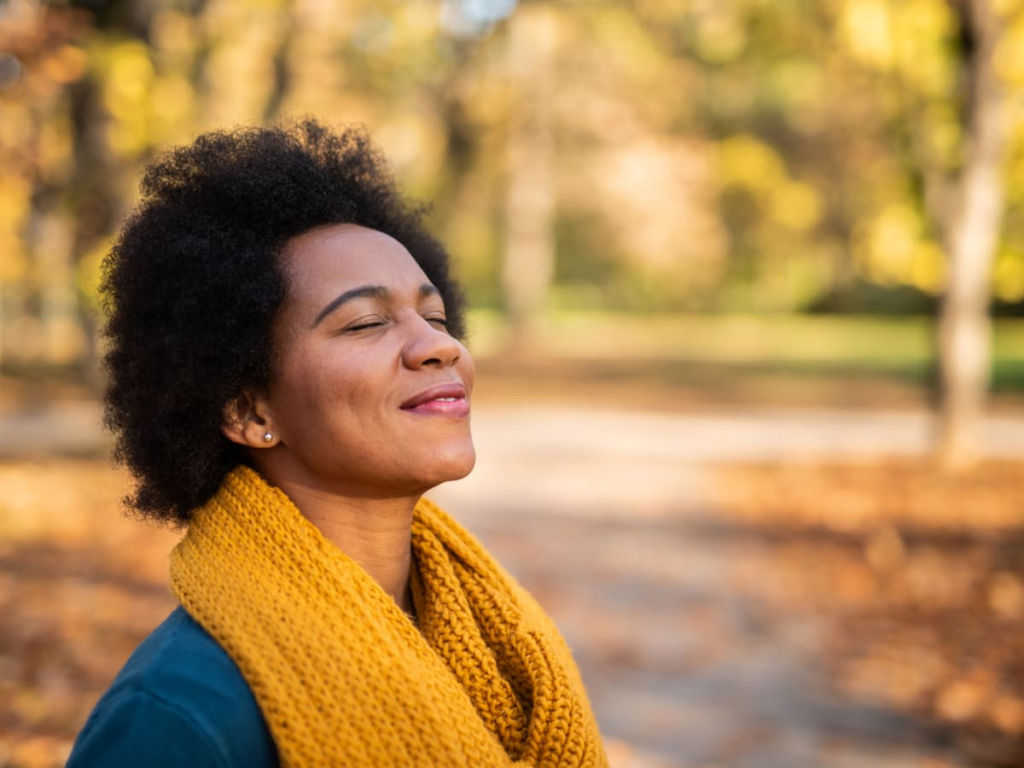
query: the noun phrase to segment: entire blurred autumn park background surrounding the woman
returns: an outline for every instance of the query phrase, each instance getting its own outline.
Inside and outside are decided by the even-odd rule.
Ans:
[[[458,260],[437,497],[613,764],[1024,765],[1024,0],[5,0],[0,766],[172,605],[97,404],[139,170],[303,115]]]

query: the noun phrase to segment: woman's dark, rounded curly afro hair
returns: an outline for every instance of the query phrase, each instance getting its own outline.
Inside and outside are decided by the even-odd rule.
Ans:
[[[147,169],[142,199],[103,263],[110,314],[104,423],[136,479],[129,504],[177,524],[244,458],[225,407],[273,375],[271,328],[287,285],[279,254],[318,226],[385,232],[416,259],[462,337],[449,255],[358,129],[307,120],[200,136]]]

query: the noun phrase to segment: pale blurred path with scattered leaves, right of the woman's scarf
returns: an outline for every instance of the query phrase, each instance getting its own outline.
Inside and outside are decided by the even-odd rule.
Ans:
[[[987,423],[987,451],[1024,453],[1022,426]],[[924,414],[490,409],[474,431],[477,469],[434,497],[557,615],[621,765],[966,765],[829,686],[824,620],[764,599],[791,574],[709,485],[721,461],[920,454]]]

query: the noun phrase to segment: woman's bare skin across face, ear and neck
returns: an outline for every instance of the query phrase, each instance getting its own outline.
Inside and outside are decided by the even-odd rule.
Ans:
[[[472,357],[449,335],[423,270],[387,234],[321,227],[290,241],[282,258],[274,380],[228,408],[224,434],[411,611],[413,509],[476,458]],[[438,385],[463,386],[467,402],[402,408]]]

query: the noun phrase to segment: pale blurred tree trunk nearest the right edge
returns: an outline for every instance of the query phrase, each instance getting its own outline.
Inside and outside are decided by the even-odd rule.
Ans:
[[[938,453],[959,469],[978,456],[988,387],[990,273],[1002,216],[1004,97],[992,67],[1001,20],[990,0],[965,0],[969,82],[968,145],[945,232],[949,270],[939,315]]]

